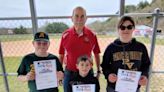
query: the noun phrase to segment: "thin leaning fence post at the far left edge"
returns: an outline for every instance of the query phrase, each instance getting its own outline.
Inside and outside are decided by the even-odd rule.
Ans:
[[[6,92],[10,92],[9,91],[8,80],[7,80],[7,73],[6,73],[6,70],[5,70],[5,64],[4,64],[4,61],[3,61],[1,41],[0,41],[0,65],[2,67],[2,76],[3,76],[3,79],[4,79]]]

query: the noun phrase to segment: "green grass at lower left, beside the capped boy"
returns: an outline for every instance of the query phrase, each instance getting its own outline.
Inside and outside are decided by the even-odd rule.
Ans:
[[[16,73],[21,57],[5,57],[4,63],[7,73]],[[2,73],[2,70],[0,71]],[[8,76],[10,92],[27,92],[27,83],[21,83],[17,80],[17,76]],[[0,76],[0,89],[5,92],[3,77]]]

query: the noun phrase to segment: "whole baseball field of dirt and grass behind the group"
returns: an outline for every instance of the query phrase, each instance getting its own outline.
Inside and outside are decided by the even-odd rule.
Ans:
[[[50,35],[50,48],[49,52],[58,55],[60,35]],[[105,48],[110,44],[116,36],[98,36],[98,42],[101,48],[101,56],[104,53]],[[5,39],[5,40],[4,40]],[[7,73],[16,73],[17,68],[20,64],[22,56],[34,51],[32,46],[32,35],[24,36],[1,36],[2,50],[4,56],[4,62]],[[150,52],[150,38],[138,37],[137,40],[142,41]],[[155,53],[153,60],[153,71],[163,71],[164,70],[164,40],[157,39],[155,44]],[[94,64],[95,65],[95,64]],[[95,68],[95,66],[94,66]],[[2,70],[0,69],[0,73]],[[11,92],[27,92],[27,84],[17,81],[16,76],[8,76],[9,87]],[[100,77],[101,92],[105,92],[106,81],[104,76]],[[158,86],[158,87],[157,87]],[[151,92],[164,92],[164,74],[152,74],[151,78]],[[60,92],[63,92],[62,87]],[[0,76],[0,92],[5,92],[3,77]],[[144,90],[144,89],[143,89]]]

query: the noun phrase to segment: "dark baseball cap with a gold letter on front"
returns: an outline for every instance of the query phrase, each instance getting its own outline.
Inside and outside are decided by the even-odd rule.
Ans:
[[[45,32],[37,32],[34,36],[34,41],[49,41],[48,34]]]

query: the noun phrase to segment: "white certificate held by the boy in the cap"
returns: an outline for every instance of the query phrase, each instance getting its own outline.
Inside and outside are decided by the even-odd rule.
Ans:
[[[57,87],[56,60],[34,62],[37,90]]]

